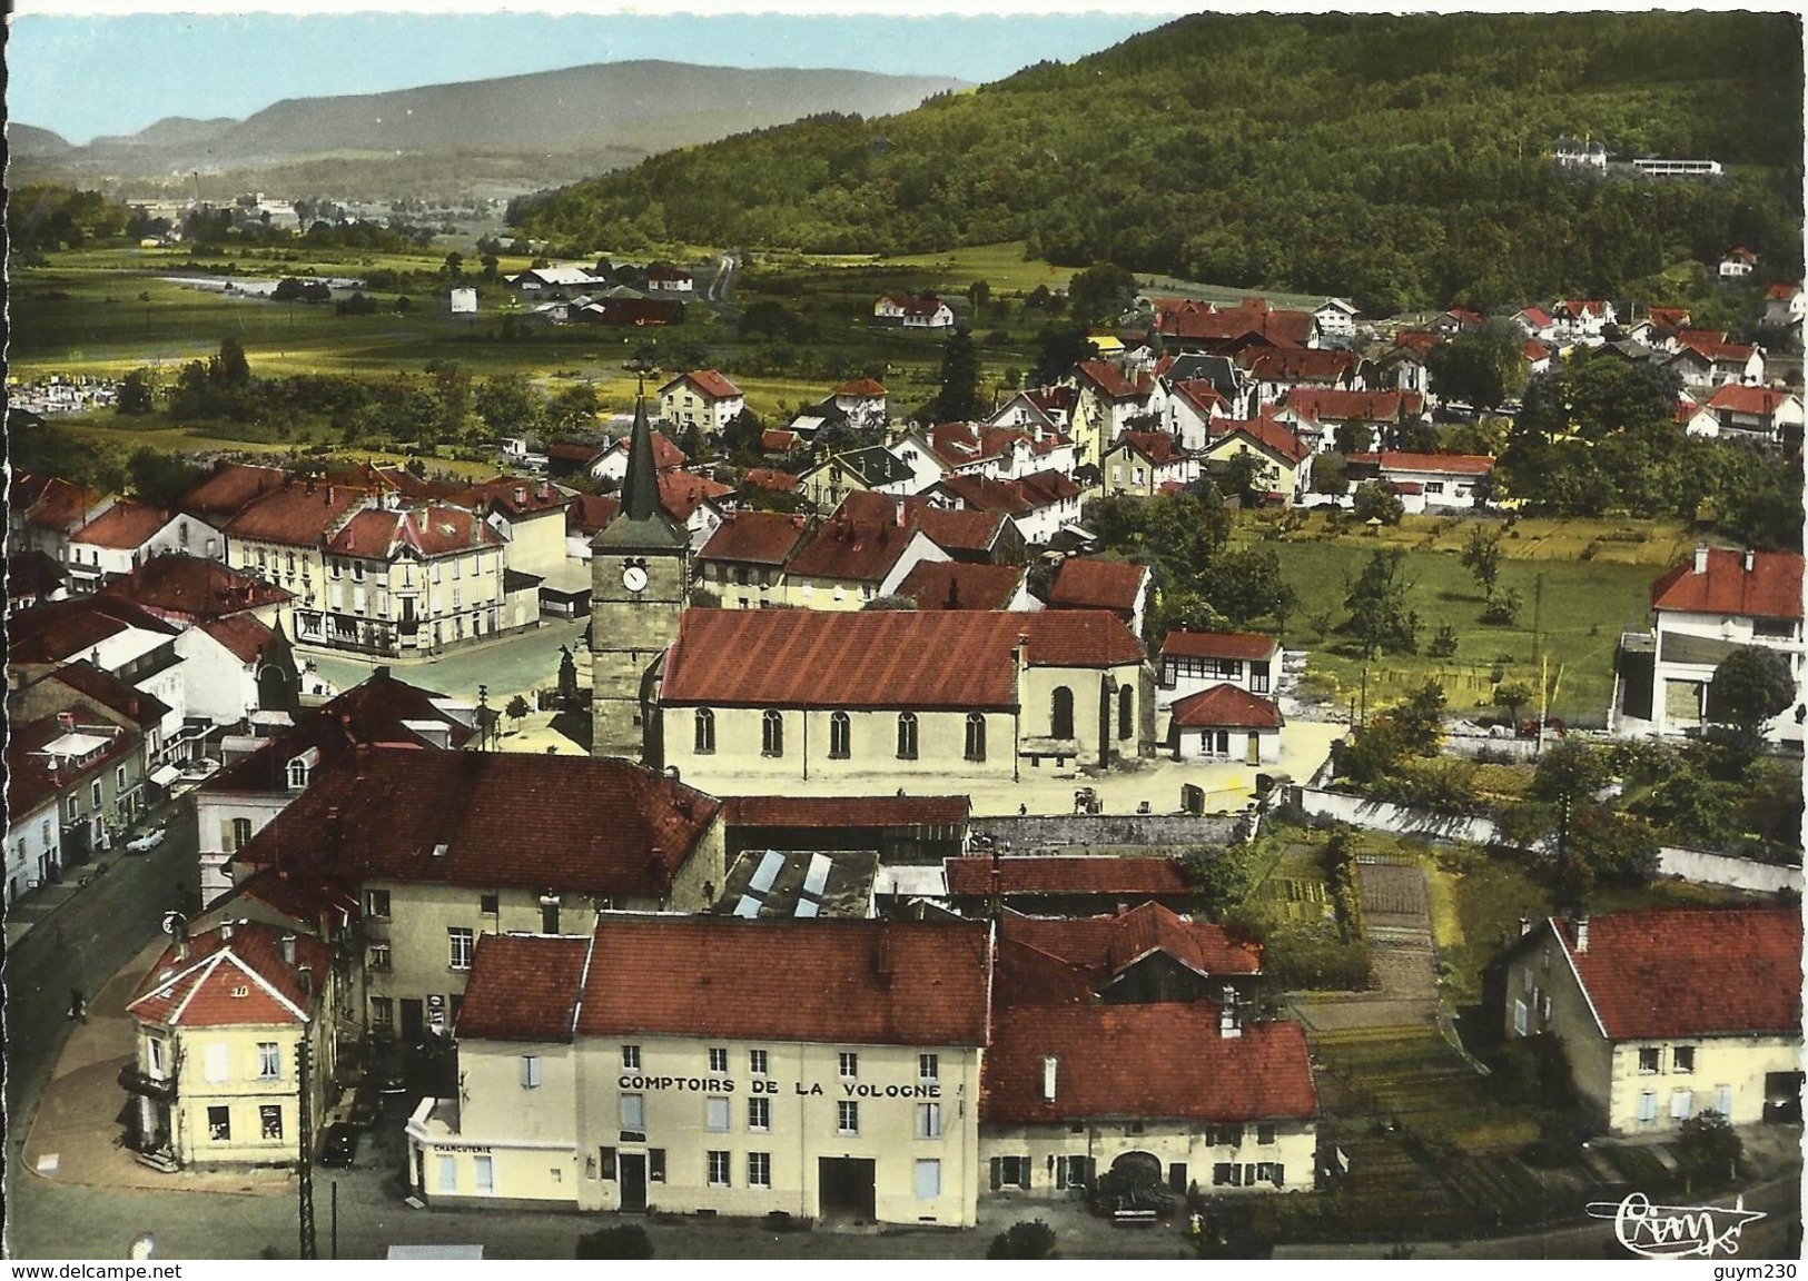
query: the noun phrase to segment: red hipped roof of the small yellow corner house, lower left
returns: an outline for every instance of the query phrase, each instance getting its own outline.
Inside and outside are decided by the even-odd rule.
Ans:
[[[284,934],[289,930],[262,921],[235,921],[186,945],[172,943],[127,1010],[143,1023],[179,1028],[309,1023],[325,994],[333,952],[313,934],[295,934],[289,965],[280,950]]]

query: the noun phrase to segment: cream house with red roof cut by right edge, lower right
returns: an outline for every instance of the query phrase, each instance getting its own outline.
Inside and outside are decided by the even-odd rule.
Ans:
[[[1502,954],[1506,1035],[1549,1035],[1615,1135],[1703,1111],[1801,1124],[1795,907],[1546,918]]]

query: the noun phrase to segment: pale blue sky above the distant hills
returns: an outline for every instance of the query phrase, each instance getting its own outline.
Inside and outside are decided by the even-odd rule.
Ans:
[[[333,13],[313,0],[306,13],[202,13],[226,5],[183,0],[184,13],[152,13],[157,0],[20,0],[5,51],[7,117],[80,145],[166,116],[244,119],[284,98],[633,58],[987,81],[1045,58],[1072,61],[1201,7],[1139,0],[1101,13],[1072,0],[989,0],[984,13],[958,13],[951,0],[843,0],[841,9],[862,11],[835,14],[812,0],[767,0],[761,13],[691,0],[692,13],[654,14],[555,2],[568,11],[461,11],[441,0],[432,13]],[[570,11],[575,4],[591,11]]]

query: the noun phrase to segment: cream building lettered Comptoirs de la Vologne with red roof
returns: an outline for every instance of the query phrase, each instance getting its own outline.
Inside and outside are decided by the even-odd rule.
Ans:
[[[485,940],[430,1205],[976,1221],[980,923],[604,916]]]

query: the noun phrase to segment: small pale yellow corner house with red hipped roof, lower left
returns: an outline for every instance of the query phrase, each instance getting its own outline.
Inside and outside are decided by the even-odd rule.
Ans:
[[[331,949],[262,921],[177,940],[127,1006],[136,1030],[119,1084],[127,1142],[157,1164],[289,1164],[302,1133],[306,1044],[311,1127],[336,1068]]]

